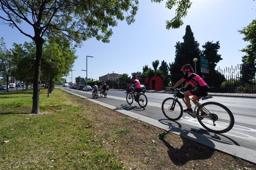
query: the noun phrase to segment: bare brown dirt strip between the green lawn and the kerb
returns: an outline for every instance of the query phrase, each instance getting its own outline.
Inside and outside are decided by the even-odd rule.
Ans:
[[[96,103],[80,100],[102,145],[115,154],[125,169],[231,169],[255,170],[252,163],[216,151],[187,138],[165,132]],[[94,109],[92,109],[94,108]]]

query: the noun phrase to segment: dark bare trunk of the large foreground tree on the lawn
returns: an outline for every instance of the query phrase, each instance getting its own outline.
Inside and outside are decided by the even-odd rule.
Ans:
[[[41,60],[42,60],[42,48],[44,40],[39,36],[35,36],[33,40],[36,43],[36,63],[35,63],[35,74],[33,79],[33,105],[32,112],[33,114],[38,114],[39,112],[39,96],[40,96],[40,69],[41,69]]]

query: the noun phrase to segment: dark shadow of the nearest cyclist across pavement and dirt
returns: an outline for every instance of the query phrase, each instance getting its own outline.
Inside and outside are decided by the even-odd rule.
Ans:
[[[177,122],[175,122],[177,123]],[[168,123],[171,124],[171,123]],[[159,139],[165,144],[168,148],[168,156],[177,166],[184,165],[190,160],[201,160],[210,158],[214,150],[210,149],[206,146],[202,146],[201,144],[195,142],[195,140],[204,141],[210,147],[214,147],[214,143],[211,142],[207,137],[202,136],[196,132],[192,132],[190,130],[182,129],[179,123],[178,127],[170,125],[170,130],[163,132],[168,134],[170,132],[180,133],[180,138],[183,141],[183,145],[180,148],[175,147],[176,141],[170,140],[167,141],[168,138],[165,139],[164,135],[160,135]],[[194,137],[193,137],[194,136]]]

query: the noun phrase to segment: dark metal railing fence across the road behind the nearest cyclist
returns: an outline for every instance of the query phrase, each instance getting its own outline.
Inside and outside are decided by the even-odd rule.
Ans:
[[[255,75],[254,78],[244,80],[244,76],[240,74],[239,65],[226,67],[224,69],[217,68],[210,71],[209,74],[197,73],[209,85],[209,92],[225,92],[225,93],[256,93]],[[244,72],[245,75],[252,74]],[[164,80],[164,90],[170,90],[177,81],[184,76],[183,73],[177,73],[171,76],[171,79]]]

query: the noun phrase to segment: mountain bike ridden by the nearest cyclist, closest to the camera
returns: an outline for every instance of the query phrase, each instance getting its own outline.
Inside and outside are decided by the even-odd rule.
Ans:
[[[169,120],[178,120],[183,115],[183,108],[178,99],[184,99],[184,93],[180,92],[181,89],[174,89],[174,98],[167,98],[162,103],[162,111],[164,116]],[[207,93],[201,95],[206,97]],[[194,101],[190,98],[191,101]],[[217,102],[199,103],[199,99],[195,101],[197,104],[193,113],[188,113],[193,118],[197,118],[198,122],[207,130],[214,133],[226,133],[234,126],[234,116],[232,112],[224,105]],[[201,115],[200,110],[207,113],[207,115]]]

